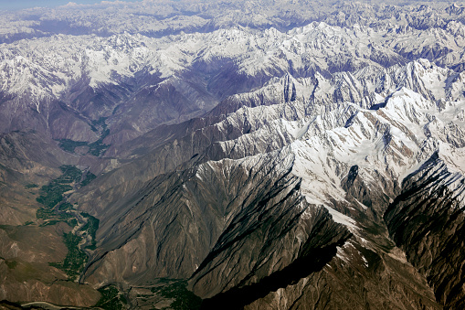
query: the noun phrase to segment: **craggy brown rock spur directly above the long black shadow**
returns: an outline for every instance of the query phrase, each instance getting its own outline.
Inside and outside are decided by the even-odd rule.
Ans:
[[[314,263],[318,270],[329,261],[349,232],[324,209],[306,206],[297,193],[288,191],[271,190],[261,201],[254,198],[228,223],[191,279],[196,294],[219,294],[210,303],[247,305],[248,298],[311,273],[300,270],[305,264]],[[235,304],[242,294],[244,300]]]

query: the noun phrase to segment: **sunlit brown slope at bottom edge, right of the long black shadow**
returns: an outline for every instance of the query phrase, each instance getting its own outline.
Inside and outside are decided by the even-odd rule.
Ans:
[[[396,251],[395,251],[396,250]],[[256,300],[245,309],[442,309],[426,280],[397,256],[378,256],[356,242],[296,283]]]

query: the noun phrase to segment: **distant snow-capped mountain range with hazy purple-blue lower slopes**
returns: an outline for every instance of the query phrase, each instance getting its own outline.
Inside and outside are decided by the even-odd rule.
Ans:
[[[1,52],[7,106],[1,130],[34,123],[32,128],[47,129],[55,139],[92,142],[98,139],[92,122],[103,117],[111,129],[107,142],[121,143],[160,123],[200,115],[227,95],[286,73],[330,77],[420,58],[460,69],[464,35],[464,26],[451,20],[428,30],[390,23],[338,27],[312,22],[287,32],[240,27],[161,38],[125,33],[19,40],[4,44]],[[168,107],[160,108],[160,101],[168,101]],[[54,114],[63,113],[67,120],[61,118],[59,126]],[[122,123],[124,132],[116,128]],[[80,134],[63,125],[79,128]]]

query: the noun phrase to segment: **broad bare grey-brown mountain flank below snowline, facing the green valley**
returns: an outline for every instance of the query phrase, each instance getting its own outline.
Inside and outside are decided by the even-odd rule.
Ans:
[[[158,176],[134,198],[122,202],[120,205],[124,208],[121,211],[118,211],[121,207],[113,206],[112,219],[116,222],[106,222],[101,227],[101,250],[92,255],[94,262],[85,273],[86,281],[106,283],[132,279],[141,283],[143,279],[147,281],[157,277],[185,278],[197,268],[207,273],[211,263],[232,251],[228,245],[236,242],[236,247],[241,249],[236,254],[240,262],[231,262],[224,268],[238,268],[241,277],[249,277],[256,272],[254,268],[249,269],[251,267],[243,269],[247,265],[241,260],[247,258],[257,260],[257,268],[262,265],[263,271],[259,273],[263,275],[259,279],[272,273],[273,269],[279,271],[286,267],[299,257],[300,251],[310,251],[305,247],[301,249],[301,244],[307,239],[311,242],[311,227],[316,225],[312,221],[328,221],[324,225],[331,222],[324,212],[318,215],[321,211],[311,212],[315,212],[316,219],[306,215],[311,207],[298,194],[299,179],[289,175],[290,164],[289,155],[280,155],[277,159],[259,156],[238,162],[207,162],[194,171],[190,169],[182,174]],[[129,212],[124,211],[128,203],[134,206]],[[114,217],[117,212],[125,212],[122,213],[124,217]],[[322,219],[317,220],[320,217]],[[132,225],[136,219],[143,219],[145,224],[136,229]],[[248,224],[243,223],[245,219]],[[346,238],[346,230],[341,228],[338,231],[333,231],[335,236],[340,234],[340,237],[334,237],[334,241],[328,236],[328,245]],[[256,237],[249,238],[251,236]],[[291,242],[292,246],[288,245],[290,238],[297,238]],[[278,243],[269,244],[268,240]],[[280,258],[275,257],[278,251],[273,251],[273,247],[279,244],[290,254],[276,265]],[[326,244],[325,241],[322,244]],[[141,246],[146,250],[131,251]],[[316,244],[313,246],[317,247]],[[254,248],[258,252],[248,251]],[[260,248],[262,250],[259,251]],[[173,261],[173,257],[177,259]],[[111,274],[114,278],[109,276]],[[236,272],[230,274],[232,276]],[[234,283],[227,284],[229,280],[225,280],[224,276],[216,270],[203,274],[201,278],[202,281],[210,277],[215,279],[209,284],[212,285],[210,289],[213,286],[219,289],[220,283],[224,283],[221,284],[225,286],[224,290],[236,286],[240,279],[231,279]],[[203,292],[209,289],[205,290]],[[208,295],[212,296],[214,291]]]

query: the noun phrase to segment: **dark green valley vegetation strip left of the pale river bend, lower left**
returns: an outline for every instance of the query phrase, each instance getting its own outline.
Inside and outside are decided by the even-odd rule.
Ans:
[[[50,266],[54,266],[67,273],[69,280],[76,280],[82,272],[88,257],[86,253],[79,249],[79,242],[82,237],[79,237],[71,232],[63,235],[63,240],[68,248],[68,254],[63,262],[49,262]]]

